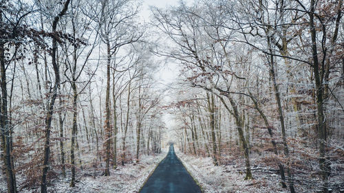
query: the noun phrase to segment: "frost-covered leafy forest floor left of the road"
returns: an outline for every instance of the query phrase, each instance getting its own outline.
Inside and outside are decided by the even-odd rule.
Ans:
[[[127,163],[125,166],[118,166],[116,169],[110,170],[110,177],[103,176],[103,172],[97,171],[94,177],[92,168],[78,170],[76,176],[76,186],[69,187],[70,178],[54,179],[48,186],[48,192],[69,193],[69,192],[138,192],[144,182],[148,179],[149,174],[153,172],[155,167],[160,163],[168,152],[168,148],[162,149],[158,155],[142,155],[139,163]],[[21,178],[17,177],[17,183],[20,184]],[[21,188],[18,187],[18,190]],[[7,192],[6,181],[0,180],[0,192]],[[40,192],[39,187],[23,188],[19,192]]]

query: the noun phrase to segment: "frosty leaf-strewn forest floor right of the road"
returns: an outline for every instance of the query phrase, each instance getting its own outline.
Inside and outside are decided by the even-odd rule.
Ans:
[[[176,155],[191,175],[198,181],[204,192],[255,192],[255,193],[281,193],[290,192],[289,188],[281,188],[281,177],[277,168],[266,166],[262,159],[264,157],[250,155],[252,180],[244,180],[244,159],[240,157],[228,157],[230,162],[220,166],[214,166],[211,157],[199,157],[186,155],[178,147],[175,148]],[[312,163],[317,167],[317,163]],[[330,178],[330,188],[333,192],[343,191],[343,163],[332,163],[333,172]],[[314,171],[313,171],[314,172]],[[298,172],[294,177],[294,188],[296,192],[316,192],[321,190],[321,180],[312,177],[312,171]]]

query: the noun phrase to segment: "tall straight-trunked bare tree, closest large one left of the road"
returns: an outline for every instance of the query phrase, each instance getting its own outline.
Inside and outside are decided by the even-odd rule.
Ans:
[[[99,11],[99,12],[98,12]],[[116,2],[101,1],[99,10],[96,11],[96,22],[98,23],[100,39],[107,47],[107,89],[105,98],[105,176],[110,175],[109,163],[111,152],[112,128],[110,125],[110,69],[111,61],[120,47],[129,45],[140,40],[142,34],[136,30],[133,19],[138,13],[138,6],[135,1],[122,0]],[[128,31],[132,33],[128,33]]]

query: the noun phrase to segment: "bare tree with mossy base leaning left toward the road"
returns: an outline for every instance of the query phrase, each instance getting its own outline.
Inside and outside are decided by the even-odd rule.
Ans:
[[[178,10],[171,10],[169,12],[162,12],[158,9],[154,10],[155,21],[158,23],[157,27],[167,34],[170,40],[179,47],[178,52],[174,49],[164,48],[160,49],[158,53],[162,56],[169,56],[180,60],[186,69],[189,70],[188,72],[191,72],[191,75],[188,74],[186,76],[186,79],[191,82],[191,86],[201,87],[206,91],[224,95],[228,99],[232,108],[228,108],[228,112],[235,117],[235,124],[237,125],[239,138],[244,150],[246,160],[245,179],[252,179],[248,146],[244,138],[244,131],[242,130],[244,122],[241,120],[237,102],[230,91],[232,81],[228,76],[232,75],[232,71],[231,69],[222,69],[224,65],[222,58],[216,58],[217,55],[215,53],[213,57],[207,53],[212,46],[215,46],[215,44],[222,40],[212,41],[207,34],[203,36],[204,30],[200,29],[202,28],[202,20],[196,14],[193,14],[199,10],[200,8],[197,7],[187,8],[184,4],[181,4]],[[211,41],[210,45],[205,43],[209,39]],[[219,63],[217,63],[218,61]],[[235,73],[233,77],[239,78]],[[222,102],[227,106],[225,100],[222,100]],[[215,135],[213,139],[215,139]],[[213,149],[216,149],[215,146]]]

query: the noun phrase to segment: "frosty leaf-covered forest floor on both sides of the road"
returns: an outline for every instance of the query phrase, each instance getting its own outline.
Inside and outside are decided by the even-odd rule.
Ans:
[[[96,170],[96,173],[94,173],[93,168],[84,168],[84,170],[78,168],[76,187],[74,188],[69,187],[70,172],[67,172],[67,178],[63,178],[58,174],[58,177],[55,177],[48,186],[48,192],[138,192],[142,185],[144,185],[144,182],[147,181],[149,174],[166,157],[167,152],[168,148],[164,148],[162,149],[162,153],[158,155],[142,155],[138,164],[127,163],[125,166],[118,166],[116,170],[111,169],[110,177],[104,177],[104,172],[100,167]],[[214,166],[211,157],[186,155],[178,149],[178,146],[175,146],[175,153],[205,193],[289,192],[288,188],[281,188],[281,177],[277,172],[277,168],[266,166],[261,161],[264,157],[255,154],[251,155],[250,159],[254,179],[245,181],[244,161],[240,156],[226,157],[229,160],[228,163]],[[332,174],[330,186],[334,192],[339,192],[344,187],[343,163],[332,163],[332,168],[336,172]],[[312,165],[317,167],[316,162],[312,163]],[[17,175],[19,192],[40,192],[39,185],[23,188],[23,181],[25,179]],[[319,189],[319,182],[320,179],[312,177],[312,171],[305,170],[304,172],[298,172],[295,177],[295,189],[297,192],[314,192],[314,190]],[[0,193],[2,192],[7,192],[6,175],[0,174]]]

